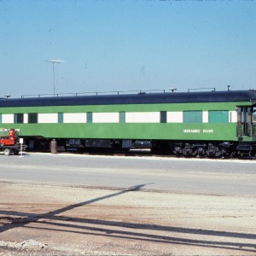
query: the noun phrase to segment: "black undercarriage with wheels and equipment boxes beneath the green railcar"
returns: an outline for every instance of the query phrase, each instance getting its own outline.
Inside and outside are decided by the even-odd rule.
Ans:
[[[38,137],[26,138],[28,150],[49,151],[51,139]],[[235,142],[194,142],[166,140],[131,140],[131,139],[56,139],[57,150],[127,152],[130,149],[147,148],[152,154],[174,154],[177,157],[229,158],[236,155],[255,154],[256,145]]]

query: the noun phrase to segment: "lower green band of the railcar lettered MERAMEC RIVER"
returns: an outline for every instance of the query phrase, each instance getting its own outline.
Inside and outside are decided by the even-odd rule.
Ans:
[[[8,128],[10,125],[2,125]],[[15,124],[20,136],[236,141],[236,124]]]

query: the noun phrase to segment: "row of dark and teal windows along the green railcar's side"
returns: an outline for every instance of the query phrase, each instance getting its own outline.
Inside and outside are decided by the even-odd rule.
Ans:
[[[0,113],[0,124],[3,122],[2,113]],[[58,123],[63,123],[64,113],[58,113]],[[229,123],[228,110],[208,111],[208,123]],[[14,114],[15,124],[24,124],[24,113]],[[37,124],[38,113],[27,113],[27,123]],[[86,113],[86,123],[93,123],[93,113]],[[119,112],[119,123],[125,123],[125,112]],[[167,123],[167,112],[160,111],[160,123]],[[183,111],[183,123],[203,123],[203,111]]]

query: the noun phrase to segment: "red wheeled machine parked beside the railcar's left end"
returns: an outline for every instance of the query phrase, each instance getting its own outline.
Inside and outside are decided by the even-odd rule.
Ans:
[[[25,150],[26,146],[22,145],[22,150]],[[19,154],[20,150],[20,138],[19,133],[15,129],[0,128],[0,150],[3,154]]]

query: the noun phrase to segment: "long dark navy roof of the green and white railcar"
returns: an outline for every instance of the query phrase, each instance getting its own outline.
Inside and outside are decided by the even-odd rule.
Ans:
[[[127,95],[55,96],[1,99],[0,107],[119,105],[196,102],[256,102],[256,90],[166,92]]]

